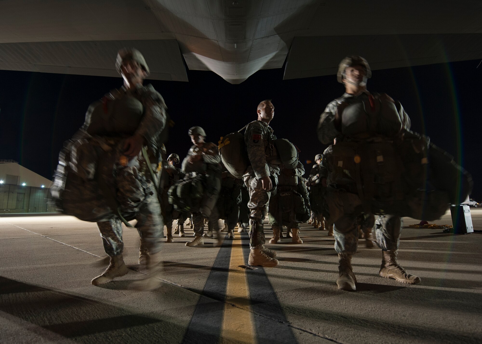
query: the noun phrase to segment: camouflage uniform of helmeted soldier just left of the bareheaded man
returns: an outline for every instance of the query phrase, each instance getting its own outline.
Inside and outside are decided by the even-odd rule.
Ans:
[[[202,236],[204,233],[204,217],[213,223],[213,230],[219,232],[219,214],[216,208],[216,201],[221,190],[221,157],[217,146],[212,142],[204,142],[201,147],[193,145],[187,152],[187,158],[194,155],[202,155],[201,161],[187,164],[186,174],[193,173],[206,175],[205,193],[201,199],[199,212],[192,213],[193,231],[195,236]],[[184,165],[184,164],[183,164]],[[185,169],[185,166],[183,166]]]

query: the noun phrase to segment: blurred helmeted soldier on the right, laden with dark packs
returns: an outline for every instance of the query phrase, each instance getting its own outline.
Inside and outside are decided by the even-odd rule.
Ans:
[[[470,175],[447,153],[409,131],[410,119],[399,102],[366,90],[371,75],[362,57],[344,58],[337,79],[346,92],[328,104],[318,125],[321,143],[335,140],[324,152],[327,179],[322,183],[328,185],[330,223],[335,223],[336,283],[343,290],[356,290],[351,257],[357,251],[357,222],[370,227],[371,214],[377,214],[376,243],[382,249],[379,275],[418,283],[420,278],[397,261],[402,216],[440,218],[447,204],[459,204],[460,194],[464,197],[471,188]],[[460,188],[455,190],[454,185]]]

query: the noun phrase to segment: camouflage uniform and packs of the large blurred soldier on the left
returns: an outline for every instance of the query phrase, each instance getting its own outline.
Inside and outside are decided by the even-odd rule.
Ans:
[[[110,127],[108,113],[125,103],[142,112],[137,114],[141,115],[137,127],[129,128],[129,123],[124,123],[125,130]],[[106,118],[97,116],[92,121],[93,112],[101,109]],[[97,222],[104,249],[111,257],[123,249],[120,216],[137,219],[144,245],[152,253],[160,250],[162,219],[155,185],[168,121],[165,109],[152,85],[110,91],[89,106],[84,124],[60,153],[53,194],[64,213]],[[124,139],[133,134],[147,142],[150,166],[142,151],[131,160],[123,156]]]

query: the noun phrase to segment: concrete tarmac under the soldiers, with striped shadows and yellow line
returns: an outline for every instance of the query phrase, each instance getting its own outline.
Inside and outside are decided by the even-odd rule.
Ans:
[[[416,285],[379,277],[381,250],[361,239],[354,292],[336,287],[334,238],[308,224],[303,244],[267,245],[274,268],[247,268],[246,233],[221,247],[175,236],[161,287],[136,291],[135,229],[123,233],[129,273],[93,286],[105,268],[95,224],[0,215],[0,343],[481,343],[482,209],[470,210],[471,234],[402,229],[399,263]],[[450,213],[435,223],[451,225]]]

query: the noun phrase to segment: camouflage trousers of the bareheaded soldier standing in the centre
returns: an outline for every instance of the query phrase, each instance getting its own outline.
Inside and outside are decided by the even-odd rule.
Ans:
[[[268,213],[271,192],[263,189],[261,180],[255,177],[251,168],[248,169],[248,173],[244,174],[243,180],[244,184],[249,187],[249,248],[251,250],[261,249],[266,242],[263,223]]]

